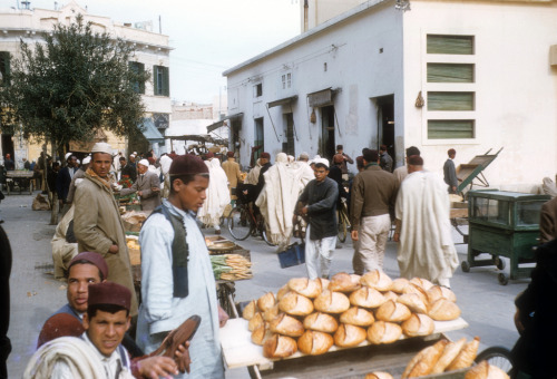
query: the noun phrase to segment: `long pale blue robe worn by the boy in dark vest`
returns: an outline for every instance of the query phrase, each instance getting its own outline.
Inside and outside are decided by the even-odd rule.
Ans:
[[[143,303],[137,321],[137,343],[145,353],[149,353],[159,347],[166,332],[198,314],[202,322],[189,347],[192,371],[189,376],[185,373],[176,378],[224,378],[215,278],[205,239],[192,213],[178,210],[167,200],[163,203],[173,214],[184,217],[189,246],[189,294],[186,298],[174,297],[174,230],[163,214],[153,214],[139,234]]]

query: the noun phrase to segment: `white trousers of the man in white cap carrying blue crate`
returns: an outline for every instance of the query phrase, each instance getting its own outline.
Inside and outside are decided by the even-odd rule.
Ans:
[[[310,240],[310,225],[305,231],[305,268],[310,279],[329,278],[336,235]]]

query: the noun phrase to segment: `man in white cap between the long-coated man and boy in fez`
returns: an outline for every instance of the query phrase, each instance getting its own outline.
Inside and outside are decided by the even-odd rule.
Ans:
[[[160,181],[158,175],[149,171],[149,162],[137,163],[137,181],[129,188],[120,191],[120,195],[137,193],[141,200],[141,210],[153,211],[160,205]]]

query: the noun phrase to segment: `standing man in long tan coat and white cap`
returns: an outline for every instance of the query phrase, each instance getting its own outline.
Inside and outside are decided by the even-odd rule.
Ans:
[[[76,188],[74,234],[79,252],[96,252],[109,268],[107,280],[119,283],[131,291],[130,314],[137,314],[137,297],[131,278],[128,247],[124,224],[108,182],[113,164],[111,148],[97,143],[91,149],[91,164],[84,182]]]

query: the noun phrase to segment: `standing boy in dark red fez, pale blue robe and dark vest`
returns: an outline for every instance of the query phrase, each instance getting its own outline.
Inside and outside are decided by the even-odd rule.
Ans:
[[[224,378],[219,327],[228,315],[218,305],[205,239],[195,212],[203,205],[208,168],[194,155],[170,166],[170,195],[145,222],[141,245],[141,307],[137,342],[147,353],[193,314],[202,322],[190,342],[190,378]]]

